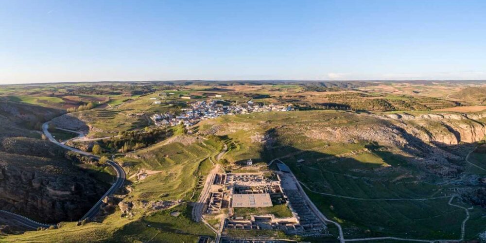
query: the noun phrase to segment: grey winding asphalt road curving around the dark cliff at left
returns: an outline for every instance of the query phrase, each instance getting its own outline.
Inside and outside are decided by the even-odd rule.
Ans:
[[[61,147],[65,148],[67,150],[76,152],[78,154],[81,154],[81,155],[84,155],[84,156],[88,156],[88,157],[91,157],[91,158],[94,158],[94,159],[100,159],[100,156],[96,156],[96,155],[93,155],[91,153],[88,153],[88,152],[79,150],[79,149],[71,148],[71,147],[69,147],[69,146],[67,146],[65,144],[62,144],[62,143],[58,142],[56,139],[54,139],[52,137],[51,133],[48,131],[48,127],[49,127],[49,121],[46,122],[46,123],[44,123],[42,125],[42,131],[44,132],[44,134],[46,135],[46,137],[51,142],[57,144],[58,146],[61,146]],[[103,197],[100,198],[100,200],[98,200],[98,202],[96,202],[96,204],[93,205],[93,207],[91,209],[89,209],[89,211],[80,220],[84,220],[86,218],[93,218],[94,216],[96,216],[98,214],[98,212],[100,211],[101,205],[103,203],[103,199],[106,196],[108,196],[110,194],[113,194],[117,189],[119,189],[123,185],[123,182],[125,181],[126,174],[123,171],[123,169],[121,168],[121,166],[118,165],[113,160],[109,160],[108,159],[106,162],[111,167],[113,167],[113,169],[115,169],[115,171],[117,173],[117,179],[116,179],[115,183],[113,183],[113,185],[110,187],[110,189],[108,189],[108,191],[106,191],[106,193],[104,193]],[[4,211],[4,210],[0,210],[0,214],[3,217],[9,218],[9,219],[11,219],[13,221],[16,221],[19,224],[21,224],[23,226],[26,226],[26,227],[29,227],[29,228],[38,228],[38,227],[49,227],[49,226],[51,226],[51,225],[48,225],[48,224],[42,224],[42,223],[36,222],[36,221],[31,220],[31,219],[29,219],[27,217],[18,215],[16,213]]]

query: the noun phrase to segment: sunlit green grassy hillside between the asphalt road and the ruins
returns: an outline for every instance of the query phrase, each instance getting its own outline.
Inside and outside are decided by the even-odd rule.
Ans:
[[[164,143],[164,142],[162,142]],[[138,169],[160,171],[144,180],[134,181],[133,198],[143,200],[197,199],[206,175],[212,168],[208,157],[218,151],[219,143],[205,140],[204,143],[183,145],[179,142],[155,145],[136,154],[139,159],[123,158],[130,164],[128,175]]]

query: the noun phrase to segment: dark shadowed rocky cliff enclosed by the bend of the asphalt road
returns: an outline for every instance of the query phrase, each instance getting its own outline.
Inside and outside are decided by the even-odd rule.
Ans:
[[[40,148],[50,145],[41,140],[35,143],[41,143]],[[32,141],[23,145],[35,146]],[[1,209],[44,223],[78,220],[106,190],[99,181],[73,165],[73,161],[52,156],[58,153],[52,153],[55,148],[51,152],[45,150],[48,151],[45,154],[39,150],[37,154],[32,153],[35,156],[25,156],[11,153],[15,151],[5,143],[3,147],[9,153],[0,152]]]

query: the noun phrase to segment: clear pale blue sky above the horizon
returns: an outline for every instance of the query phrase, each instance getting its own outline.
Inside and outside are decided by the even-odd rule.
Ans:
[[[486,79],[484,0],[0,0],[0,84]]]

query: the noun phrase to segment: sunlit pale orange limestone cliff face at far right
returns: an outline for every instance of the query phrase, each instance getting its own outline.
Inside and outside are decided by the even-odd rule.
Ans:
[[[486,114],[391,114],[386,117],[400,121],[400,127],[425,142],[452,145],[477,142],[486,136],[486,124],[480,121]]]

